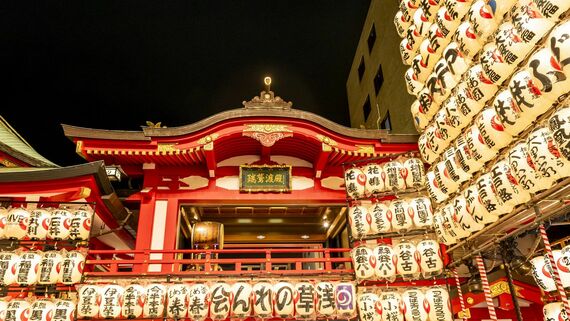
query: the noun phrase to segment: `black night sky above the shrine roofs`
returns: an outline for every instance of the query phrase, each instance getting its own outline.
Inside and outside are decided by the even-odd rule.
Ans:
[[[61,123],[173,127],[242,107],[273,78],[293,108],[349,125],[346,79],[370,0],[0,1],[0,114],[59,165]]]

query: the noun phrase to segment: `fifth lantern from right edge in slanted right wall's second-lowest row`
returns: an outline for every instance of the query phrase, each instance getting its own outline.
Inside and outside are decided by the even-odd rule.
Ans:
[[[485,144],[498,151],[510,144],[513,136],[505,131],[495,108],[485,108],[477,117],[477,128],[485,140]]]

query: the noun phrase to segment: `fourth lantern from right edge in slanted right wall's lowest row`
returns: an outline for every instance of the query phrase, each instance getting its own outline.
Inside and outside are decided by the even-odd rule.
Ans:
[[[530,200],[530,194],[519,185],[512,172],[507,160],[499,161],[491,169],[495,191],[504,206],[511,209]]]

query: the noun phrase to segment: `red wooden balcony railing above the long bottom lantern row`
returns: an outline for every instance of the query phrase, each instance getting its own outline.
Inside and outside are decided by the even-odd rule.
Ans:
[[[91,250],[86,277],[353,275],[350,249]]]

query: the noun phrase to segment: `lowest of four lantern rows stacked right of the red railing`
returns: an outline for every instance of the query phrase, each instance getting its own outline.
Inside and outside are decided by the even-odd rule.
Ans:
[[[358,293],[362,321],[452,321],[449,293],[443,287]]]

